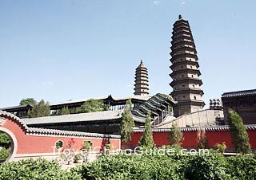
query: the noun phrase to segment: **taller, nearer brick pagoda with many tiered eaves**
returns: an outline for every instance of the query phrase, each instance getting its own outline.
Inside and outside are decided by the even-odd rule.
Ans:
[[[170,96],[178,101],[174,116],[198,112],[205,105],[200,88],[202,80],[198,78],[201,73],[190,25],[182,15],[179,15],[178,21],[174,23],[170,49],[170,77],[173,79],[170,83],[173,88]]]

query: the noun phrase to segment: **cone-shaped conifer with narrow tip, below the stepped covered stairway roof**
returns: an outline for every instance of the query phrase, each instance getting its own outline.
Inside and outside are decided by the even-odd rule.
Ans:
[[[140,147],[143,148],[153,148],[154,147],[154,139],[152,135],[152,129],[151,129],[151,118],[150,118],[150,112],[146,115],[146,123],[143,131],[143,135],[141,139],[139,140]]]

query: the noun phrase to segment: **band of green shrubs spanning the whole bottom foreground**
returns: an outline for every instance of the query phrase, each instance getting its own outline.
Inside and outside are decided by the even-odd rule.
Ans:
[[[90,180],[253,180],[255,155],[224,157],[218,151],[209,155],[107,155],[71,170],[62,170],[58,162],[39,158],[4,162],[0,179],[90,179]],[[80,158],[80,157],[76,157]]]

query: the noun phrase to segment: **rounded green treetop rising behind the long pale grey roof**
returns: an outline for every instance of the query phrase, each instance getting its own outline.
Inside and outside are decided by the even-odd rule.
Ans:
[[[87,112],[103,112],[107,111],[108,107],[103,103],[102,100],[86,100],[84,104],[78,109],[78,113]]]

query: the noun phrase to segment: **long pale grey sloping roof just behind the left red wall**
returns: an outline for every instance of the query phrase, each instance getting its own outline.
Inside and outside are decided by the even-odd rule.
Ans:
[[[84,121],[104,121],[110,119],[121,119],[122,111],[89,112],[71,115],[53,115],[40,118],[22,119],[26,124],[42,123],[74,123]]]

